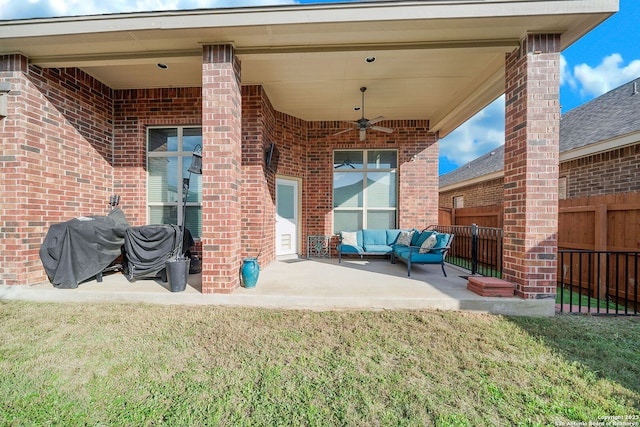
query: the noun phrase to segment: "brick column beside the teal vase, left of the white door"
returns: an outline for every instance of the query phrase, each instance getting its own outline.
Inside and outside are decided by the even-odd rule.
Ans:
[[[231,45],[202,57],[202,292],[240,286],[242,94]]]

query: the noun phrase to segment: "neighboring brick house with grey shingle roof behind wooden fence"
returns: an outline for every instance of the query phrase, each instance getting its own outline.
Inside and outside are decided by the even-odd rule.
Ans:
[[[640,192],[640,78],[562,115],[558,198]],[[440,207],[503,203],[504,145],[440,177]]]

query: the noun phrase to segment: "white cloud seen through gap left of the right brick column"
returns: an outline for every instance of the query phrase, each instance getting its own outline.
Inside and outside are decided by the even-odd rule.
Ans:
[[[504,95],[440,140],[440,157],[458,166],[504,144]]]

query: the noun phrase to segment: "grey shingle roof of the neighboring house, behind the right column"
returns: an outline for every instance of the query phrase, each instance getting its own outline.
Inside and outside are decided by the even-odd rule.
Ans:
[[[640,78],[564,113],[560,161],[640,142]],[[504,145],[440,176],[440,191],[503,176]],[[448,188],[452,187],[452,188]]]

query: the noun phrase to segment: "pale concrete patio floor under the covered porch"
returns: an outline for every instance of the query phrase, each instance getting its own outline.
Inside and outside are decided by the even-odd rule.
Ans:
[[[407,277],[405,264],[384,259],[291,259],[271,263],[260,272],[255,288],[232,294],[202,294],[201,276],[189,276],[187,289],[171,292],[160,280],[130,282],[120,272],[101,283],[88,281],[76,289],[51,284],[0,286],[0,300],[41,302],[105,302],[219,305],[310,310],[437,309],[522,316],[552,316],[553,301],[481,297],[467,290],[467,270],[446,265],[415,265]]]

